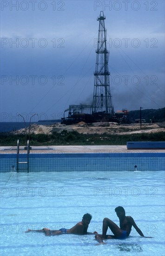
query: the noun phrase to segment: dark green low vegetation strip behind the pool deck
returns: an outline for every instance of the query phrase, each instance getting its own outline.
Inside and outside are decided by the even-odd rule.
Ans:
[[[1,134],[1,146],[16,146],[17,140],[20,146],[26,145],[25,135]],[[109,135],[109,134],[79,134],[76,131],[61,133],[53,132],[51,135],[32,134],[30,135],[31,146],[51,145],[126,145],[127,141],[165,141],[165,132],[143,133],[132,135]]]

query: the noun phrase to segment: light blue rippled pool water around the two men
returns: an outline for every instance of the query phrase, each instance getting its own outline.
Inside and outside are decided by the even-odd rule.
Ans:
[[[0,173],[2,256],[165,255],[165,172]],[[94,235],[45,236],[27,229],[69,229],[92,214],[88,231],[102,231],[104,217],[119,225],[114,209],[125,208],[145,236],[132,229],[125,240],[95,246]],[[108,234],[111,234],[108,229]]]

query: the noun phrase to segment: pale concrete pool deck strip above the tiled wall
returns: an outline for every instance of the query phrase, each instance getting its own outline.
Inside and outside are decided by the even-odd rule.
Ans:
[[[20,146],[21,154],[27,153],[24,146]],[[165,149],[127,149],[126,145],[118,146],[32,146],[32,154],[52,154],[52,153],[165,153]],[[0,154],[16,154],[17,147],[0,147]]]

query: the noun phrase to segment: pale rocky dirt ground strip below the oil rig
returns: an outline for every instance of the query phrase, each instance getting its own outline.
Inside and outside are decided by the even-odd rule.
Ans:
[[[60,123],[54,123],[50,126],[48,125],[39,125],[33,124],[30,127],[30,133],[34,134],[51,134],[53,132],[62,132],[66,131],[77,131],[80,134],[139,134],[139,133],[157,133],[165,132],[165,122],[164,123],[155,123],[142,124],[140,129],[140,124],[118,124],[114,122],[97,122],[92,124],[86,124],[80,122],[73,125],[61,125]],[[28,131],[28,128],[27,128]],[[12,134],[24,134],[25,128],[12,132]]]

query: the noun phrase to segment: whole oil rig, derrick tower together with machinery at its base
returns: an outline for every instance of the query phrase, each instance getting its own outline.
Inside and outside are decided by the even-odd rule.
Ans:
[[[108,70],[109,51],[106,48],[105,19],[106,17],[103,11],[101,11],[97,19],[99,20],[99,34],[96,50],[92,105],[70,105],[68,117],[61,118],[62,124],[72,124],[80,121],[86,123],[98,121],[122,122],[125,121],[128,115],[127,109],[115,113],[112,105],[109,80],[110,72]]]

